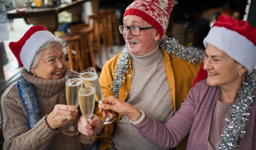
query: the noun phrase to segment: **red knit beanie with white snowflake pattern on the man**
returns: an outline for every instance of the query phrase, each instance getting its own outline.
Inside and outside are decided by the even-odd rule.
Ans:
[[[129,14],[139,16],[163,37],[173,5],[173,0],[135,0],[126,8],[123,17]]]

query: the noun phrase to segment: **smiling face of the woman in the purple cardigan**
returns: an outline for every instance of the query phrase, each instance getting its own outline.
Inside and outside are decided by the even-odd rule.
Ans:
[[[241,84],[239,73],[244,67],[240,63],[210,44],[207,44],[205,55],[204,69],[208,72],[207,84],[230,88]]]

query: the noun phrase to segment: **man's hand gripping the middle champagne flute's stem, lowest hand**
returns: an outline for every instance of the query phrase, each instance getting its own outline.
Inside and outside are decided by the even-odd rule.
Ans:
[[[78,130],[86,136],[100,134],[102,133],[103,128],[104,125],[102,124],[102,120],[95,114],[92,115],[88,122],[85,120],[83,115],[81,115],[78,121]]]

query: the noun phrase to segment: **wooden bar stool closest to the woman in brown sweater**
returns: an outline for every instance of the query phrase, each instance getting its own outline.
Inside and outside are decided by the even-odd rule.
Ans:
[[[79,40],[80,35],[77,34],[65,34],[64,37],[67,40],[68,44],[68,64],[70,66],[70,70],[74,70],[76,72],[82,72],[84,70],[84,66],[82,64],[80,49],[79,49]]]

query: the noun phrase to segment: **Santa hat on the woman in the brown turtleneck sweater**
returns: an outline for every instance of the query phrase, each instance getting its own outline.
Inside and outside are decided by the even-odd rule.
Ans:
[[[55,36],[45,27],[32,26],[19,41],[9,43],[9,47],[20,66],[24,66],[30,72],[36,52],[54,38]]]

